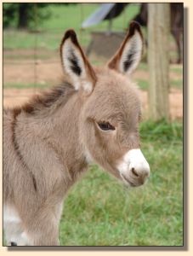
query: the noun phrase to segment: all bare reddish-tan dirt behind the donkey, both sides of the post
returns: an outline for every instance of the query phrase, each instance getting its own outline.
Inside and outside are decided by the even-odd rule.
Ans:
[[[36,58],[34,58],[34,53],[34,49],[3,49],[3,84],[58,84],[62,76],[59,51],[37,49]],[[10,59],[10,56],[13,56],[13,58]],[[19,60],[17,56],[20,56]],[[100,65],[106,61],[104,58],[99,58],[95,55],[94,57],[91,56],[91,62]],[[179,68],[179,65],[173,65],[172,67]],[[149,73],[145,70],[137,70],[133,73],[133,79],[148,80]],[[183,78],[180,73],[170,72],[170,79]],[[40,91],[41,89],[36,88],[4,89],[3,105],[6,107],[20,105]],[[144,114],[147,116],[147,92],[141,91],[141,97]],[[181,90],[170,90],[169,102],[172,119],[181,119],[183,116],[183,95]]]

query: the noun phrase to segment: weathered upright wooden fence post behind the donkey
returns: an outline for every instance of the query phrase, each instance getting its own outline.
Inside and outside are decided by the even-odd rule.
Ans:
[[[150,119],[169,119],[169,3],[148,3]]]

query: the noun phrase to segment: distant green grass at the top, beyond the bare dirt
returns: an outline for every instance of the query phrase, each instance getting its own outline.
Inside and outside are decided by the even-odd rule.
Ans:
[[[105,20],[97,26],[80,30],[81,23],[97,8],[97,3],[82,3],[76,5],[49,5],[48,10],[51,13],[49,19],[38,22],[37,28],[40,33],[31,33],[25,31],[4,30],[3,47],[6,49],[31,49],[35,45],[37,48],[58,49],[60,40],[65,30],[73,28],[76,30],[80,43],[83,46],[90,42],[90,32],[93,30],[106,31],[108,21]],[[120,15],[113,20],[113,30],[123,30],[128,26],[128,21],[138,13],[139,5],[130,4],[125,9],[125,14]]]

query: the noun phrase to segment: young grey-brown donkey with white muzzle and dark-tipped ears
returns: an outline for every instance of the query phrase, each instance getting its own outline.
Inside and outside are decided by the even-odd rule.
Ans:
[[[3,226],[8,245],[57,246],[62,202],[91,162],[128,186],[145,183],[139,93],[127,78],[143,37],[132,22],[105,67],[92,67],[73,30],[60,44],[64,81],[3,111]]]

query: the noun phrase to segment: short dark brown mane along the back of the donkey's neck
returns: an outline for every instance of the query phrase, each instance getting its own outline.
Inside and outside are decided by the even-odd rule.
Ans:
[[[62,79],[60,84],[43,91],[39,95],[32,96],[29,102],[26,102],[22,106],[10,108],[9,110],[14,113],[14,117],[21,112],[35,114],[42,110],[56,110],[61,105],[64,106],[75,92],[74,86],[65,79]],[[8,109],[3,109],[5,114],[7,110]]]

